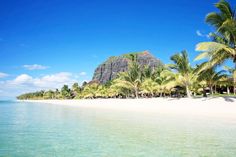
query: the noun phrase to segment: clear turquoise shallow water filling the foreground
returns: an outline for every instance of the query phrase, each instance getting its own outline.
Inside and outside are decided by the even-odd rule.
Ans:
[[[0,157],[236,156],[236,121],[0,102]]]

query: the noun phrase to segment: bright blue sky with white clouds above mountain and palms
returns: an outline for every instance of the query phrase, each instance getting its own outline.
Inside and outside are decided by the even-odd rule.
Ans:
[[[196,44],[214,31],[204,19],[216,2],[2,0],[0,99],[81,84],[108,57],[124,53],[148,50],[170,63],[186,49],[193,60]]]

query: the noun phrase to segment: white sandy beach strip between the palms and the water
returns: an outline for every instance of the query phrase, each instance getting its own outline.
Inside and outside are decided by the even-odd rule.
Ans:
[[[24,100],[32,103],[45,103],[81,107],[159,114],[181,114],[193,116],[227,117],[236,119],[236,98],[197,98],[197,99],[95,99],[95,100]]]

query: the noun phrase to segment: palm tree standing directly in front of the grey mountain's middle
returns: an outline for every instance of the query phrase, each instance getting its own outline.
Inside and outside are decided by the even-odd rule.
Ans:
[[[131,90],[135,97],[138,98],[141,80],[141,68],[136,61],[133,61],[128,71],[120,73],[118,78],[114,80],[114,83],[117,87]]]

